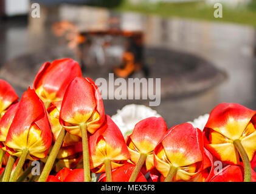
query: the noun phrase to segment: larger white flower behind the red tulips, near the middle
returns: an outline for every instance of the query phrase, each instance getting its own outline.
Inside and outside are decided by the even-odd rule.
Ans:
[[[121,110],[117,110],[117,114],[113,115],[111,118],[126,138],[126,136],[133,132],[137,122],[151,116],[160,117],[161,115],[159,115],[156,110],[152,110],[145,105],[128,104]]]

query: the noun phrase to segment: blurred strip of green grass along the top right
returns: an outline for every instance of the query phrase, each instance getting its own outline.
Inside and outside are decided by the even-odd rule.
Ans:
[[[170,3],[160,2],[157,4],[141,3],[132,5],[124,0],[116,10],[120,12],[139,12],[146,15],[159,15],[164,18],[177,16],[180,18],[194,18],[206,21],[232,22],[256,26],[256,0],[244,8],[228,8],[223,5],[223,18],[214,18],[216,8],[206,5],[204,2]]]

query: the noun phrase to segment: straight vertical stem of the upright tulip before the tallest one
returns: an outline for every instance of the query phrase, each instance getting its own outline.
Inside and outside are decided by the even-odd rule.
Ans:
[[[87,125],[86,124],[80,125],[80,130],[81,130],[81,140],[83,145],[83,172],[84,172],[85,182],[91,182]]]

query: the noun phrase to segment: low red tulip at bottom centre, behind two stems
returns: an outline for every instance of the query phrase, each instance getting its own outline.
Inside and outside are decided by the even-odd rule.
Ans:
[[[125,164],[117,169],[112,170],[112,182],[128,182],[135,166],[133,164]],[[106,173],[100,175],[99,182],[106,182]],[[147,182],[145,176],[139,172],[136,182]]]

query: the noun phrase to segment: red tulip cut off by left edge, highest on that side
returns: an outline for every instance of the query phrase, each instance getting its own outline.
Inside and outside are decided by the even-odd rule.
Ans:
[[[4,116],[10,105],[17,102],[18,99],[19,97],[16,95],[12,86],[8,82],[0,79],[0,118]]]

